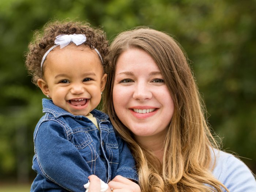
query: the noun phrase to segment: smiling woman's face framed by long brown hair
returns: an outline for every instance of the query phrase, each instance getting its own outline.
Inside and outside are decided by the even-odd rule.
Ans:
[[[174,111],[158,65],[138,48],[126,50],[117,60],[113,103],[118,118],[137,141],[162,138]]]

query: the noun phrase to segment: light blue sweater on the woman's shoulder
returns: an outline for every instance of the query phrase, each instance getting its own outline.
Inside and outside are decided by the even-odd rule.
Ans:
[[[218,150],[214,152],[216,162],[212,173],[230,192],[256,192],[255,177],[244,162],[232,154]]]

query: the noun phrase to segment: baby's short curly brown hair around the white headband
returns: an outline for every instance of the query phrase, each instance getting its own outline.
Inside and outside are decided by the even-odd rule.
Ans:
[[[54,45],[54,40],[60,34],[84,34],[86,42],[83,44],[91,49],[97,48],[103,60],[103,70],[109,63],[109,46],[106,34],[100,30],[90,27],[87,22],[77,21],[54,21],[46,23],[42,30],[34,33],[33,40],[29,43],[26,53],[26,68],[32,75],[32,82],[37,86],[37,80],[43,78],[44,68],[41,72],[41,60],[45,52]]]

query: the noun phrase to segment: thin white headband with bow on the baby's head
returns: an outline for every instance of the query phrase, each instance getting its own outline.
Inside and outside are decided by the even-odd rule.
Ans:
[[[44,61],[45,61],[45,57],[48,55],[48,53],[51,50],[53,50],[56,46],[60,45],[60,48],[64,48],[70,42],[73,42],[76,45],[81,45],[83,42],[86,42],[86,36],[84,34],[58,35],[54,41],[55,45],[53,45],[50,49],[48,49],[48,51],[46,51],[46,53],[44,54],[44,56],[42,58],[41,71],[42,71],[42,66],[44,64]],[[101,54],[99,53],[99,51],[96,48],[94,50],[98,53],[98,55],[102,61],[102,57],[101,57]],[[103,63],[103,61],[102,61],[102,63]]]

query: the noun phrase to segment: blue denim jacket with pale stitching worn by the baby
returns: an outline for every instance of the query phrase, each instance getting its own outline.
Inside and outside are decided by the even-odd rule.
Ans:
[[[115,176],[138,181],[135,161],[116,135],[108,115],[94,109],[99,129],[84,116],[75,116],[43,99],[45,115],[34,131],[32,169],[37,176],[31,192],[84,192],[88,176],[108,182]]]

